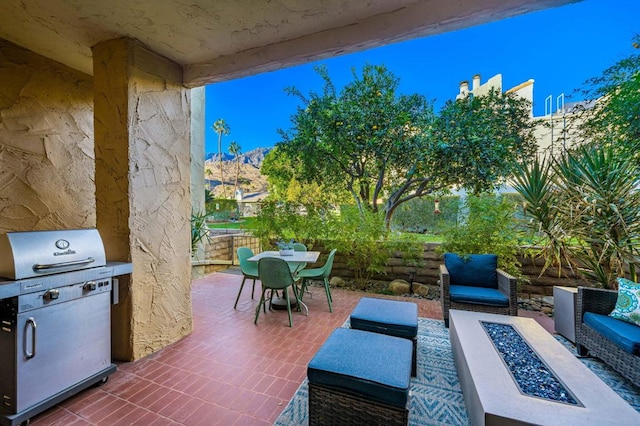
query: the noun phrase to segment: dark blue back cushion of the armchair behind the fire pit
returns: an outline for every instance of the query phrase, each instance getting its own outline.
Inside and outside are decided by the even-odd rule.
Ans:
[[[471,254],[463,259],[457,254],[445,253],[444,265],[451,285],[498,288],[498,256],[495,254]]]

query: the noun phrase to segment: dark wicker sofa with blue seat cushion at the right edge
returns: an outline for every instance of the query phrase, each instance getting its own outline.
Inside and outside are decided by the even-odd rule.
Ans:
[[[616,300],[614,290],[578,288],[576,350],[600,358],[640,386],[640,326],[608,316]]]

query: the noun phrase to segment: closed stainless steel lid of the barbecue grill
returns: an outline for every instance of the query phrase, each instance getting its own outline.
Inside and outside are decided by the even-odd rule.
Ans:
[[[19,280],[106,265],[97,229],[0,234],[0,276]]]

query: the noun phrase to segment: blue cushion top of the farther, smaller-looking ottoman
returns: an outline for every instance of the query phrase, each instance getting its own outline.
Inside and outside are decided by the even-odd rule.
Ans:
[[[418,305],[363,297],[351,312],[351,328],[413,339],[418,335]]]

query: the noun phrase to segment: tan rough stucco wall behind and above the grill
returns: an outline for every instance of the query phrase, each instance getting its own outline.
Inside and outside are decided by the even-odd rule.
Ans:
[[[0,39],[0,233],[96,224],[90,76]]]

